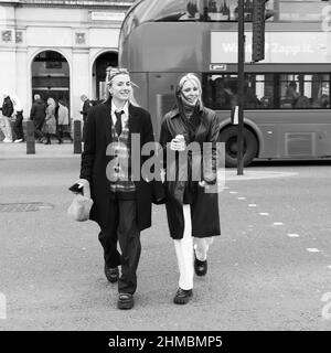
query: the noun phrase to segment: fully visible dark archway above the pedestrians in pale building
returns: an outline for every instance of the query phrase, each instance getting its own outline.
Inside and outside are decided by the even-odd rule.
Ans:
[[[32,97],[40,94],[44,101],[49,97],[60,99],[70,107],[70,66],[58,52],[44,51],[32,62]]]

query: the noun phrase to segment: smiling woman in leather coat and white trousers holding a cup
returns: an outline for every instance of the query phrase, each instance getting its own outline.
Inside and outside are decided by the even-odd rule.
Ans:
[[[216,183],[220,125],[215,111],[203,106],[201,96],[199,78],[194,74],[184,75],[175,88],[177,108],[166,115],[160,133],[167,217],[180,271],[179,288],[173,298],[177,304],[189,302],[193,293],[194,270],[197,276],[206,274],[209,247],[213,236],[221,234],[217,193],[207,192],[209,185]],[[194,149],[185,152],[191,142],[199,143],[195,145],[199,146],[196,153]],[[204,142],[212,142],[211,153],[204,153]],[[168,161],[167,153],[173,153],[170,150],[184,152],[184,160]],[[180,176],[185,170],[186,179]],[[169,178],[169,171],[175,178]],[[195,178],[196,172],[200,181]]]

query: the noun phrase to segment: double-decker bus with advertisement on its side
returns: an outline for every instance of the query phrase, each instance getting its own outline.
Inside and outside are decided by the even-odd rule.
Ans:
[[[245,0],[244,165],[254,159],[331,157],[331,3],[267,2],[265,60],[252,62],[252,0]],[[249,22],[250,21],[250,22]],[[119,65],[158,137],[179,76],[195,73],[220,117],[225,163],[237,165],[237,0],[141,0],[127,12]]]

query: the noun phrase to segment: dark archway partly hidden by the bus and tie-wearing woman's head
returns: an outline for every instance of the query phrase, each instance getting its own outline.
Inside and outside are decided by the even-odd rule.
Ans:
[[[93,64],[93,92],[96,100],[107,98],[106,73],[109,67],[117,67],[118,53],[105,52]]]

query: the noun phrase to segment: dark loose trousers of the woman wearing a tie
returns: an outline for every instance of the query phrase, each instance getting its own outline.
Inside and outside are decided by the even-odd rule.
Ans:
[[[141,252],[136,201],[110,200],[110,212],[116,222],[107,228],[102,228],[99,233],[105,263],[113,268],[121,265],[118,292],[134,295],[137,288],[137,268]],[[121,255],[117,250],[117,239]]]

